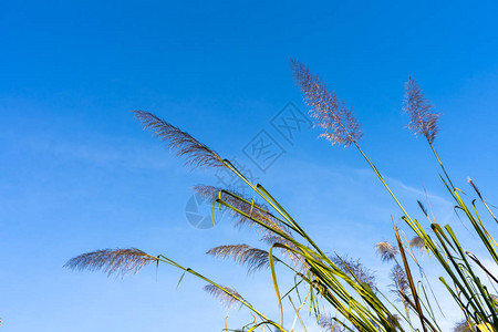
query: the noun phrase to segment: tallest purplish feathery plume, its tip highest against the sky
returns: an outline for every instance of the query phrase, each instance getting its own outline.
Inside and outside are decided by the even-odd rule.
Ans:
[[[318,75],[301,62],[291,59],[291,70],[297,84],[304,94],[305,104],[311,107],[310,115],[314,118],[314,126],[321,127],[324,137],[332,144],[349,146],[357,144],[363,136],[360,124],[343,101]]]

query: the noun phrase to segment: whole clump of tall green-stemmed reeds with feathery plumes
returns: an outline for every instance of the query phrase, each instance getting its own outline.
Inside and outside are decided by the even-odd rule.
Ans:
[[[488,287],[498,283],[497,277],[491,273],[492,268],[485,266],[476,255],[465,249],[452,226],[436,222],[422,203],[418,203],[421,211],[412,214],[413,216],[418,214],[425,220],[419,221],[412,217],[381,170],[362,148],[363,132],[352,110],[301,62],[291,60],[290,66],[303,94],[304,103],[310,107],[309,114],[315,127],[322,131],[320,136],[330,141],[332,145],[356,148],[378,178],[380,185],[400,208],[394,212],[398,218],[392,221],[395,242],[383,241],[376,246],[381,258],[392,264],[393,283],[390,289],[377,287],[373,273],[359,260],[325,253],[305,231],[303,222],[298,222],[269,189],[261,184],[252,183],[230,160],[188,133],[145,111],[134,111],[135,117],[145,129],[164,141],[179,157],[184,157],[187,166],[227,168],[250,188],[252,193],[250,196],[207,185],[194,188],[198,195],[212,204],[212,214],[224,212],[234,220],[236,227],[247,225],[255,229],[260,234],[263,246],[253,248],[248,245],[226,245],[212,248],[207,253],[220,259],[231,259],[245,266],[250,272],[267,268],[277,294],[280,314],[276,318],[267,315],[235,289],[179,264],[168,256],[146,253],[135,248],[84,253],[69,260],[65,267],[124,276],[136,273],[148,264],[173,266],[204,280],[207,283],[205,290],[227,305],[238,304],[252,313],[255,320],[239,326],[237,331],[264,331],[264,329],[305,331],[305,323],[301,318],[302,308],[308,308],[318,324],[326,331],[442,331],[440,322],[434,312],[439,303],[435,297],[428,295],[433,292],[430,282],[437,280],[429,280],[425,274],[422,263],[414,253],[418,250],[426,252],[430,260],[442,267],[443,273],[438,282],[445,286],[449,297],[461,310],[464,320],[455,331],[497,332],[498,302]],[[456,214],[471,227],[478,245],[494,264],[498,264],[498,246],[489,230],[490,227],[496,227],[495,222],[498,220],[473,180],[468,179],[468,183],[477,199],[470,201],[467,201],[468,196],[463,195],[463,190],[454,185],[434,145],[440,114],[435,112],[412,77],[405,85],[403,112],[409,117],[408,128],[415,135],[425,137],[433,152],[435,162],[440,168],[440,179],[455,203]],[[484,216],[479,212],[478,205],[481,205],[488,214],[486,221],[483,220]],[[400,230],[398,227],[402,225],[412,232],[411,240]],[[276,264],[284,267],[284,271],[294,278],[292,288],[281,289]],[[486,276],[487,281],[481,280],[481,276]],[[394,293],[397,301],[392,301],[388,292]],[[292,299],[299,301],[293,302]],[[288,301],[295,312],[292,321],[283,317],[283,305]],[[228,330],[227,326],[226,329]]]

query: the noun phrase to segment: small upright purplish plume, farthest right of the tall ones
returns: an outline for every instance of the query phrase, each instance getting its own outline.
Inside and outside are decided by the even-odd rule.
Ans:
[[[433,144],[437,135],[437,120],[440,114],[433,111],[434,106],[424,97],[422,89],[409,76],[405,84],[405,98],[403,101],[403,111],[408,114],[411,121],[408,128],[415,135],[424,135]]]

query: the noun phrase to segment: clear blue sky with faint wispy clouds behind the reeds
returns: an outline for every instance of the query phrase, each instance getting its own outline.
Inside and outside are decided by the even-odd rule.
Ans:
[[[458,186],[468,190],[470,176],[498,203],[497,13],[485,1],[2,1],[3,330],[224,328],[226,310],[203,283],[186,278],[176,290],[180,273],[168,267],[117,281],[62,269],[117,247],[165,253],[277,313],[268,273],[247,277],[204,255],[257,236],[186,220],[189,188],[216,184],[215,174],[183,167],[131,110],[241,160],[325,250],[362,257],[388,283],[373,246],[392,239],[390,216],[401,215],[357,152],[314,129],[290,144],[271,126],[288,102],[305,113],[289,56],[354,107],[362,146],[407,205],[425,185],[439,220],[458,227],[429,149],[404,127],[403,84],[413,75],[444,113],[436,146]],[[266,173],[242,152],[261,129],[286,151]],[[245,319],[230,312],[232,328]],[[458,319],[448,313],[446,326]]]

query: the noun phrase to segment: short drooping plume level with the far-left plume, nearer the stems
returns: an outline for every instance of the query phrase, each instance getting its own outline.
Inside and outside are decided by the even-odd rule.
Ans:
[[[270,267],[268,251],[248,245],[219,246],[209,249],[206,253],[222,259],[231,258],[240,264],[246,264],[248,273]],[[277,258],[274,260],[279,261]]]

